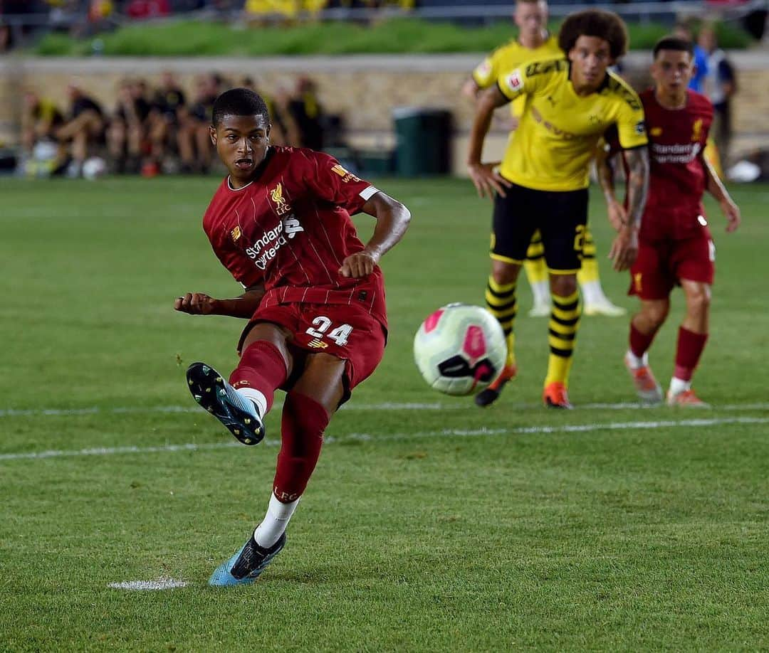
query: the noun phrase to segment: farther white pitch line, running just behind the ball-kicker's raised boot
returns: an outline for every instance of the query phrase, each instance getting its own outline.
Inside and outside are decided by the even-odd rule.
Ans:
[[[274,409],[282,406],[281,402],[275,402]],[[527,410],[540,408],[538,403],[514,403],[505,404],[506,410]],[[577,410],[649,410],[661,408],[663,406],[650,406],[638,402],[621,403],[582,403],[576,406]],[[769,410],[769,403],[727,403],[715,405],[717,410]],[[342,406],[342,410],[465,410],[474,409],[474,404],[469,400],[441,403],[415,403],[415,402],[382,402],[382,403],[351,403]],[[141,414],[141,413],[200,413],[199,406],[125,406],[118,408],[98,408],[92,406],[89,408],[41,408],[41,409],[0,409],[0,417],[38,417],[38,416],[78,416],[78,415],[123,415],[123,414]]]

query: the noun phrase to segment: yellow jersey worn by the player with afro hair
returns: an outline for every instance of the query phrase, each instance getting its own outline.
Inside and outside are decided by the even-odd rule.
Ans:
[[[601,134],[616,124],[622,148],[647,143],[644,108],[624,80],[608,72],[598,91],[580,96],[567,59],[531,61],[497,80],[509,100],[524,97],[515,138],[500,172],[538,191],[577,191],[590,184],[589,164]]]

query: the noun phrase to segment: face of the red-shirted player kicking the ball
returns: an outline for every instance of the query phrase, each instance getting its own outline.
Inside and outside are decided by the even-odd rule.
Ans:
[[[211,127],[211,142],[227,166],[231,181],[251,181],[256,167],[265,160],[270,128],[262,115],[225,116],[217,128]]]

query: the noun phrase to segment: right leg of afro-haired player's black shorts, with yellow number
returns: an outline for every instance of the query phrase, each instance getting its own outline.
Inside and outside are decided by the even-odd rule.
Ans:
[[[553,273],[577,273],[588,224],[588,189],[538,193],[544,260]]]

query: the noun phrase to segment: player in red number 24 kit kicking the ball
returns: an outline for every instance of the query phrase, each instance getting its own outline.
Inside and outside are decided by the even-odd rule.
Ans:
[[[328,154],[270,146],[268,109],[254,91],[226,91],[212,113],[211,141],[229,175],[203,228],[245,292],[225,300],[187,293],[174,307],[249,321],[229,382],[211,366],[192,363],[189,389],[246,445],[265,436],[275,389],[286,391],[265,518],[208,581],[239,585],[255,581],[283,549],[331,413],[381,360],[387,317],[378,262],[411,216]],[[365,246],[350,219],[361,210],[377,220]]]

